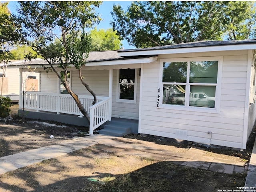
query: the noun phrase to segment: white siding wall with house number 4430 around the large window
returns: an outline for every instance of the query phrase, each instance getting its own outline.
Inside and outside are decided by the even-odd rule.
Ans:
[[[220,112],[156,108],[159,60],[144,64],[140,132],[243,148],[247,50],[161,55],[159,58],[223,56]],[[207,134],[212,132],[212,134]]]

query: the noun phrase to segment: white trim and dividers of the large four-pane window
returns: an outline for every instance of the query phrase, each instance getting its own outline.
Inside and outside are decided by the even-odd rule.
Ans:
[[[186,93],[185,93],[185,100],[186,105],[170,105],[170,104],[163,104],[163,63],[164,62],[190,62],[190,61],[218,61],[218,74],[217,74],[217,83],[216,84],[201,84],[204,86],[208,85],[215,85],[215,107],[214,108],[207,108],[207,107],[196,107],[196,106],[189,106],[189,92],[190,92],[190,85],[193,83],[189,83],[188,75],[186,83],[182,83],[186,85]],[[212,57],[192,57],[192,58],[166,58],[160,59],[159,63],[159,86],[160,88],[160,102],[159,107],[163,109],[171,109],[171,110],[184,110],[184,111],[192,111],[192,112],[207,112],[207,113],[220,113],[220,96],[221,96],[221,80],[222,80],[222,66],[223,66],[223,56],[212,56]],[[187,74],[189,73],[189,67],[187,69]],[[200,85],[196,83],[196,85]]]

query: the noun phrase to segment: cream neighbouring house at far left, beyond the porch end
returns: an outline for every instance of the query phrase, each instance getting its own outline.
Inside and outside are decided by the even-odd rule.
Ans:
[[[18,68],[10,68],[12,64],[22,65],[22,60],[13,60],[10,64],[4,65],[0,63],[0,91],[2,90],[2,96],[9,97],[12,102],[19,102],[20,98],[20,72]],[[24,62],[23,62],[24,63]],[[3,68],[6,68],[4,71]],[[39,73],[32,71],[23,72],[24,81],[22,86],[24,90],[36,90],[38,91]]]

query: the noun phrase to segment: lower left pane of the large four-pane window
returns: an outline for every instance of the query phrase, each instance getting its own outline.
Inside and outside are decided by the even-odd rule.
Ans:
[[[163,88],[163,104],[184,105],[185,85],[166,85]]]

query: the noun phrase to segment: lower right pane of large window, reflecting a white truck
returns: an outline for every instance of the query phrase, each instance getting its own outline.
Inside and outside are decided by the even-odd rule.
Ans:
[[[215,107],[216,86],[190,86],[189,106]]]

